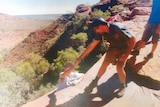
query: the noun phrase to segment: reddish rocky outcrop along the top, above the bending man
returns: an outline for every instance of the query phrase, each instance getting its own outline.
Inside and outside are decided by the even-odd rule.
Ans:
[[[80,4],[76,8],[76,15],[90,15],[95,9],[105,12],[115,5],[123,5],[123,9],[110,10],[111,14],[119,14],[123,20],[129,20],[135,15],[146,15],[150,13],[152,0],[100,0],[98,3],[87,6]]]

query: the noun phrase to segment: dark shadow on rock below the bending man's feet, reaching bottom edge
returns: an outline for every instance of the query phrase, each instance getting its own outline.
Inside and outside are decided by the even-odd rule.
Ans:
[[[92,84],[92,82],[90,83]],[[80,93],[70,99],[69,101],[56,105],[56,96],[54,93],[50,94],[50,104],[47,107],[102,107],[115,98],[114,90],[119,87],[119,79],[117,74],[114,74],[109,80],[100,84],[97,87],[85,88],[84,93]],[[94,93],[91,88],[97,88],[97,92]],[[96,99],[98,98],[98,99]],[[63,99],[63,98],[62,98]]]

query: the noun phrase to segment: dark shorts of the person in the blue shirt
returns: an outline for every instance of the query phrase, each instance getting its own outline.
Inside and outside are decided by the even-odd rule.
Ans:
[[[159,34],[156,34],[157,27],[158,24],[148,24],[143,32],[142,40],[148,42],[152,37],[152,43],[157,43],[159,40]]]

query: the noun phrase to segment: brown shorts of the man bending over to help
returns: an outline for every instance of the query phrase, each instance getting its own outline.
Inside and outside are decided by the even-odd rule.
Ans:
[[[106,56],[105,56],[105,61],[107,61],[108,63],[112,63],[113,65],[116,65],[118,61],[118,59],[126,52],[126,50],[124,49],[117,49],[117,48],[110,48],[107,52],[106,52]],[[125,64],[125,62],[119,62],[122,65]]]

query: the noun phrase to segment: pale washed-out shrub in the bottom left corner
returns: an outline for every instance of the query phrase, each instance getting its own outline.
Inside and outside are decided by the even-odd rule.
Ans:
[[[0,107],[18,107],[26,102],[29,84],[10,69],[0,69]]]

